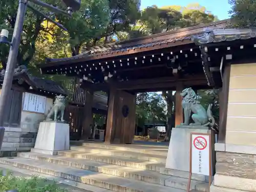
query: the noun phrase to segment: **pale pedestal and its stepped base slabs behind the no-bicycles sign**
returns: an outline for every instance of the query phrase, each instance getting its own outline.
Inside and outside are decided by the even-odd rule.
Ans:
[[[173,186],[175,182],[180,182],[182,189],[186,189],[189,176],[189,151],[191,133],[211,133],[206,126],[177,126],[172,130],[165,168],[161,169],[161,174],[172,176],[166,180],[166,186]],[[214,146],[215,135],[212,134],[212,146]],[[214,151],[214,148],[212,148]],[[215,159],[215,156],[212,155]],[[190,189],[205,191],[208,186],[208,176],[193,174],[191,177]],[[205,188],[206,187],[206,188]]]

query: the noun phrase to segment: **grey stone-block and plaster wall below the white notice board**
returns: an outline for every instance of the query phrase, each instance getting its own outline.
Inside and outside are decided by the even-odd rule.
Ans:
[[[22,111],[20,127],[5,127],[0,156],[16,156],[17,152],[30,151],[35,145],[39,123],[46,118],[53,99],[47,98],[45,114]]]

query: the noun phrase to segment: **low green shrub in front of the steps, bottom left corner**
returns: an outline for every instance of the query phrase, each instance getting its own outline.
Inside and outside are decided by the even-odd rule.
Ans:
[[[67,192],[67,189],[59,188],[56,182],[46,178],[37,176],[15,177],[11,172],[4,175],[3,170],[0,170],[0,192],[10,189],[17,189],[18,192]]]

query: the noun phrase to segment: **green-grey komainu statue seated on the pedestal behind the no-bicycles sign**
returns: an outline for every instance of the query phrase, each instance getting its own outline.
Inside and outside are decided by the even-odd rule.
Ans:
[[[211,113],[212,104],[209,104],[207,112],[201,104],[197,101],[197,94],[191,89],[184,89],[181,93],[182,108],[184,110],[184,123],[181,125],[188,125],[190,117],[195,123],[190,123],[189,125],[199,125],[199,126],[213,126],[215,124],[215,119]],[[194,114],[191,116],[191,112]]]

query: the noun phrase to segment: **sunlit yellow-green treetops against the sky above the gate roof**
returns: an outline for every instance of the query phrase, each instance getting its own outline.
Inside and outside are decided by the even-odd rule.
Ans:
[[[131,37],[176,30],[215,20],[218,20],[218,17],[198,3],[188,4],[186,7],[171,5],[159,8],[153,5],[141,11],[141,17]]]

